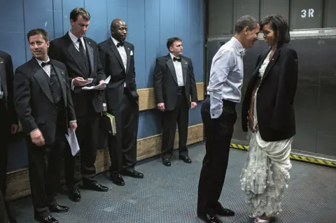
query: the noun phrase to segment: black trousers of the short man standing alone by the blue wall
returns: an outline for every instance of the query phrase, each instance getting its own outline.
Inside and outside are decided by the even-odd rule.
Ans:
[[[179,127],[179,155],[188,156],[188,121],[189,107],[186,100],[184,87],[177,94],[176,107],[174,110],[165,110],[162,115],[163,133],[161,145],[162,159],[170,159],[174,150],[176,122]]]

